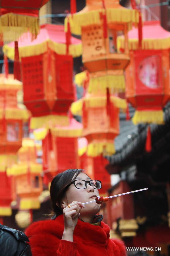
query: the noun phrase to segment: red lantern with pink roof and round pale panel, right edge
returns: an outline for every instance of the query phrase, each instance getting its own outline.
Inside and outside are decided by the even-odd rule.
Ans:
[[[138,31],[128,33],[130,64],[126,69],[126,97],[136,108],[134,124],[162,124],[163,111],[170,97],[169,43],[170,32],[159,21],[145,22],[142,49],[138,50]],[[119,39],[122,48],[123,38]]]

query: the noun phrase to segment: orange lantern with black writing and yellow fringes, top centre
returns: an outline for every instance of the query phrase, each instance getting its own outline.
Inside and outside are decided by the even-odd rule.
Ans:
[[[132,23],[138,23],[138,11],[119,5],[117,0],[86,1],[86,7],[65,19],[70,22],[71,32],[81,34],[82,61],[90,72],[88,92],[105,92],[112,88],[114,92],[125,90],[124,69],[130,57],[128,51],[127,32]],[[67,27],[66,27],[67,29]],[[124,51],[117,51],[117,36],[125,35]],[[80,85],[78,74],[76,81]]]

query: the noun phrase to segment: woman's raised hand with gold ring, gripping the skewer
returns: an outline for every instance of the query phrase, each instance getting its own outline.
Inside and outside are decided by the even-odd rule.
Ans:
[[[82,207],[85,206],[81,202],[73,201],[70,204],[70,207],[67,206],[66,208],[63,209],[64,231],[74,231]]]

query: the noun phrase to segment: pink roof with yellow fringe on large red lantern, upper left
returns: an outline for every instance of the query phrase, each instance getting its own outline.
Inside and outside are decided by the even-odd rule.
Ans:
[[[32,41],[30,32],[22,34],[18,40],[19,56],[30,57],[40,55],[49,49],[57,54],[66,54],[66,33],[63,25],[45,24],[40,27],[40,33]],[[9,59],[14,59],[14,42],[3,46],[3,52]],[[82,54],[81,40],[71,36],[69,54],[79,57]]]

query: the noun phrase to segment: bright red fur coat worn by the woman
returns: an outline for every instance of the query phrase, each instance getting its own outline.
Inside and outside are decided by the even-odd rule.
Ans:
[[[125,256],[125,245],[109,239],[109,226],[103,221],[95,226],[78,219],[73,241],[61,240],[64,230],[63,214],[55,220],[34,222],[26,229],[32,256]]]

